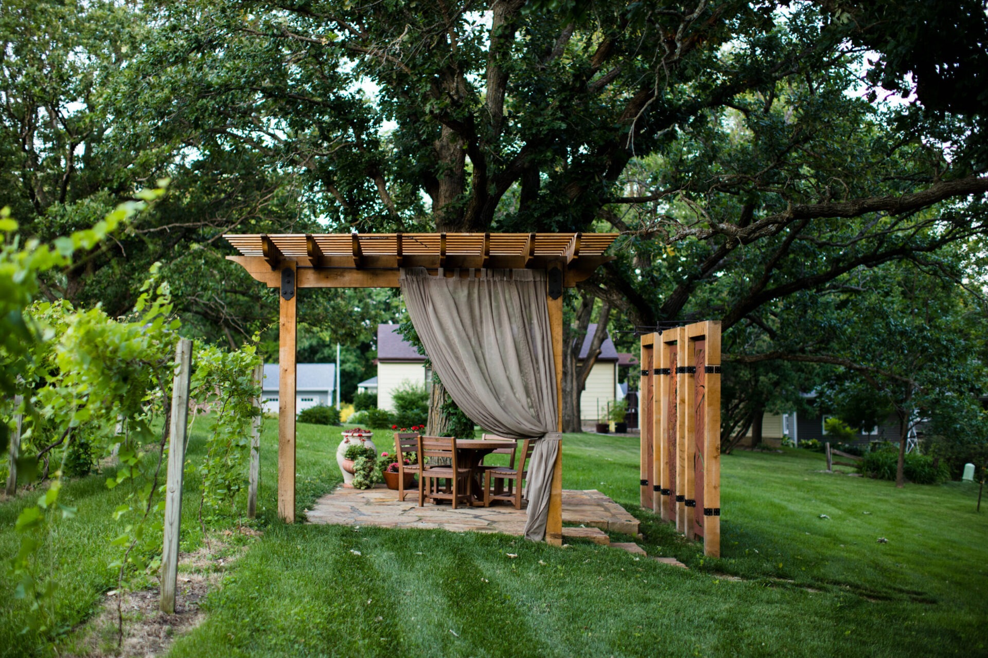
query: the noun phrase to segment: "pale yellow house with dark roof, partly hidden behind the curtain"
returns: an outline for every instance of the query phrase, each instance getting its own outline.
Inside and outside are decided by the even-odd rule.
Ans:
[[[580,351],[581,360],[586,357],[593,340],[596,325],[587,329],[587,336]],[[432,373],[426,372],[426,357],[405,342],[398,333],[397,325],[377,326],[377,407],[393,410],[391,395],[405,381],[426,385]],[[608,402],[617,395],[617,349],[608,338],[601,345],[601,355],[587,377],[587,385],[580,397],[580,415],[583,420],[593,421],[598,417],[598,409],[603,416]],[[370,389],[369,389],[370,390]]]

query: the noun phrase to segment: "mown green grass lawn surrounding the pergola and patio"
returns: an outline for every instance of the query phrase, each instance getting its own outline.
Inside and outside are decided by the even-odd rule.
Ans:
[[[822,455],[803,451],[725,456],[724,557],[710,559],[637,508],[637,439],[567,435],[564,486],[596,488],[625,505],[642,520],[649,554],[674,555],[691,567],[683,570],[591,545],[282,524],[274,513],[275,430],[268,422],[264,538],[232,563],[206,600],[206,621],[176,641],[173,656],[986,652],[988,510],[975,514],[970,485],[897,490],[819,473]],[[299,510],[339,480],[338,433],[299,425]],[[84,559],[72,581],[78,593],[66,596],[67,624],[84,619],[113,585],[100,567],[109,561],[102,541],[109,530],[101,528],[113,526],[103,517],[115,493],[100,487],[102,478],[73,484],[80,515],[59,531],[61,558]],[[5,554],[17,507],[0,506]],[[190,547],[202,541],[191,517],[187,507]],[[19,614],[2,578],[0,653],[17,641]]]

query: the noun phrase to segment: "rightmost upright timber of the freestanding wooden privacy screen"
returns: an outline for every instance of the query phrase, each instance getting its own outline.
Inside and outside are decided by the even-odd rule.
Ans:
[[[720,365],[720,322],[706,322],[706,362]],[[720,373],[706,373],[706,450],[703,455],[703,554],[720,556]],[[706,510],[716,513],[706,514]]]

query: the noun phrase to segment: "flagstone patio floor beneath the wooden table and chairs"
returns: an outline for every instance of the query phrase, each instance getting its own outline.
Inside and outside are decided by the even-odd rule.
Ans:
[[[516,510],[511,505],[491,507],[457,507],[450,504],[426,503],[418,506],[418,493],[409,494],[404,502],[398,500],[396,491],[378,485],[372,489],[339,487],[315,502],[306,510],[309,523],[380,526],[387,528],[445,528],[453,532],[495,532],[522,535],[527,511]],[[416,497],[412,502],[411,497]],[[562,517],[566,523],[579,523],[587,528],[564,528],[565,531],[586,531],[588,537],[600,540],[612,531],[636,535],[638,521],[614,500],[596,489],[580,491],[563,489]]]

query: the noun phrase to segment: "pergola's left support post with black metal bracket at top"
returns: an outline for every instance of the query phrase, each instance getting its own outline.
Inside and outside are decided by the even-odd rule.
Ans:
[[[290,270],[290,276],[286,270]],[[294,261],[285,262],[278,350],[278,515],[286,523],[295,521],[295,302],[298,295],[294,273]]]

